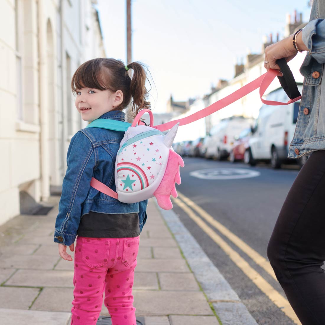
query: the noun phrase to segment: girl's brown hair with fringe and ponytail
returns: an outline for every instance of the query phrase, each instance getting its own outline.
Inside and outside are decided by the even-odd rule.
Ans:
[[[127,68],[133,69],[132,80],[122,60],[98,58],[86,61],[72,76],[72,91],[76,93],[76,89],[83,87],[109,89],[112,92],[121,90],[123,102],[115,110],[123,110],[129,106],[132,97],[133,103],[129,114],[134,119],[139,110],[150,109],[151,106],[147,101],[149,91],[145,86],[147,68],[141,62],[129,63]]]

